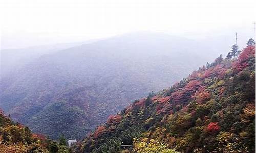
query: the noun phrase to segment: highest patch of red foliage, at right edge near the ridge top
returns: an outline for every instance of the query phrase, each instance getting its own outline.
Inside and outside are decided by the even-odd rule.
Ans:
[[[243,70],[245,67],[249,65],[248,59],[250,57],[255,57],[255,46],[247,46],[244,48],[243,52],[238,57],[236,63],[234,63],[233,68],[239,71]]]

